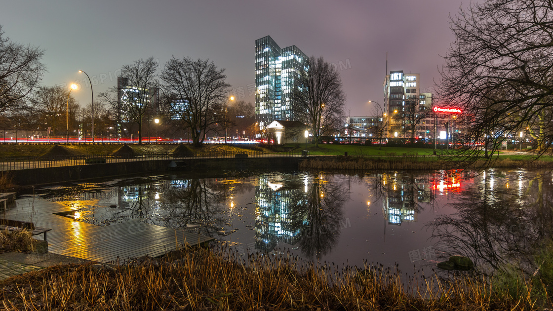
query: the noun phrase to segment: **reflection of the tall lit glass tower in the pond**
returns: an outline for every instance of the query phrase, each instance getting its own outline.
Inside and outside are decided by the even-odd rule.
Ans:
[[[290,245],[296,243],[302,219],[292,209],[299,203],[298,195],[304,194],[301,189],[291,189],[281,183],[270,182],[267,176],[261,176],[255,188],[258,205],[255,218],[257,250],[270,251],[279,241]]]

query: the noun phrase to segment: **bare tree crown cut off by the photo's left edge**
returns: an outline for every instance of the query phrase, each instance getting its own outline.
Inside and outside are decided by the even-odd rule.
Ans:
[[[0,25],[0,112],[24,105],[43,76],[43,55],[44,50],[12,42]]]

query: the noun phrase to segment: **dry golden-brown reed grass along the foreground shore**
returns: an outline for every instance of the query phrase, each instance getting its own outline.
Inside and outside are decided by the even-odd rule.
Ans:
[[[179,260],[95,269],[51,267],[17,286],[3,281],[3,306],[14,310],[528,310],[530,297],[492,291],[490,279],[417,276],[381,265],[303,263],[288,253],[248,255],[190,249]],[[17,278],[17,277],[16,277]],[[416,286],[414,284],[417,284]],[[413,292],[412,294],[409,294]],[[534,305],[534,307],[531,307]]]

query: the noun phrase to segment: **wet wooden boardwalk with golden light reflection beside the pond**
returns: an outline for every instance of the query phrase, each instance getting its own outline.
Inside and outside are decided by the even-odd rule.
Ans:
[[[96,226],[56,212],[75,208],[46,200],[21,199],[8,208],[4,218],[32,221],[36,226],[52,229],[48,232],[49,252],[99,262],[113,262],[148,255],[156,257],[175,250],[185,242],[189,245],[213,240],[212,237],[148,224],[140,219]],[[40,239],[40,237],[39,237]]]

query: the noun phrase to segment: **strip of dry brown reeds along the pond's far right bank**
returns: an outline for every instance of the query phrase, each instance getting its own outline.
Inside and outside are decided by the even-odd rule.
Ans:
[[[476,160],[469,165],[461,163],[460,160],[451,157],[427,156],[394,156],[394,157],[309,157],[300,161],[300,170],[426,170],[426,169],[458,169],[458,168],[551,168],[553,162],[544,160],[533,160],[528,157],[524,159],[511,159],[498,157],[493,161]]]

